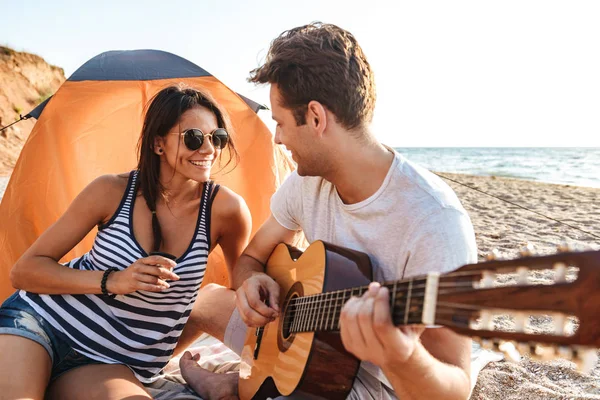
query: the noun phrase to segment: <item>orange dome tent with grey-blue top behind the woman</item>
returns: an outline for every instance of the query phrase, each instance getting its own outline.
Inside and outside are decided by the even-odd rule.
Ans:
[[[176,55],[156,50],[102,53],[30,113],[37,123],[0,204],[0,300],[14,291],[8,277],[16,260],[89,182],[136,167],[144,106],[160,89],[179,83],[209,91],[229,113],[240,162],[215,180],[244,197],[253,232],[260,227],[269,215],[270,196],[293,169],[257,115],[264,107]],[[95,234],[90,232],[62,261],[88,251]],[[227,284],[218,250],[209,258],[205,282]]]

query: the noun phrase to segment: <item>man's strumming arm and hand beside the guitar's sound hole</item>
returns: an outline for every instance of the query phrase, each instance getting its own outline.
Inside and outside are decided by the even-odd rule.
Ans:
[[[265,264],[279,243],[292,243],[295,235],[271,215],[233,268],[236,305],[246,325],[264,326],[278,315],[279,285],[265,274]]]

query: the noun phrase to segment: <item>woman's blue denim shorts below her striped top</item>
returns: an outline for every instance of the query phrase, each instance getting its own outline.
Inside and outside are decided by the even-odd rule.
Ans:
[[[75,351],[68,338],[43,319],[19,292],[6,299],[0,307],[1,334],[21,336],[42,345],[52,360],[50,381],[83,365],[102,364]]]

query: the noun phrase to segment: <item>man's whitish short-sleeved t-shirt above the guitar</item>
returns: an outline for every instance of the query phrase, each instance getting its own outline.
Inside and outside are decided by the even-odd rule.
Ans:
[[[381,187],[368,199],[344,204],[321,177],[293,172],[271,198],[285,228],[369,254],[376,281],[449,272],[477,261],[473,225],[452,189],[398,153]],[[362,363],[389,386],[381,370]]]

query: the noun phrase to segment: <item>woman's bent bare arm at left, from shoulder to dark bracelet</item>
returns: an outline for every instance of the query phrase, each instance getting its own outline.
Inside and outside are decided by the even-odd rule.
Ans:
[[[13,266],[13,287],[45,294],[101,293],[102,271],[65,268],[58,261],[94,226],[112,217],[126,184],[124,175],[104,175],[90,183]]]

